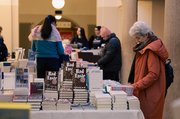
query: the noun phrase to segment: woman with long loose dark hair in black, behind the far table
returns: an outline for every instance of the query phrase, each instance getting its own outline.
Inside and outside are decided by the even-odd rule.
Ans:
[[[77,28],[77,35],[71,40],[71,44],[76,48],[88,48],[88,42],[85,34],[85,30],[82,27]]]

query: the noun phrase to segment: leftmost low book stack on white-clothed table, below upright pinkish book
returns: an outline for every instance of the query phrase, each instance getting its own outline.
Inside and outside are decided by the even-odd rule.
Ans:
[[[27,103],[31,105],[32,111],[39,111],[42,107],[42,95],[29,95],[27,99]]]

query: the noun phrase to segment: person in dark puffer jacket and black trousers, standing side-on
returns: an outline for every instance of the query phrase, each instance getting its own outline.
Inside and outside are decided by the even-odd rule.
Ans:
[[[103,79],[119,82],[119,71],[122,65],[120,40],[106,27],[101,28],[100,35],[106,43],[101,58],[97,62],[103,69]]]

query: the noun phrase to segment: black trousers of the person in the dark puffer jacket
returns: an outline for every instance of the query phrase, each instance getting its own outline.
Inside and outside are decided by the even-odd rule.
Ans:
[[[113,71],[113,72],[103,71],[103,79],[104,80],[110,79],[119,82],[119,71]]]

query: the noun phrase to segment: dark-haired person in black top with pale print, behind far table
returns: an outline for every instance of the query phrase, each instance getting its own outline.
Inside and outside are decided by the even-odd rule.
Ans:
[[[89,49],[97,49],[98,47],[101,47],[101,44],[103,43],[103,38],[100,36],[100,30],[101,26],[96,26],[94,28],[95,34],[92,35],[88,41]]]

